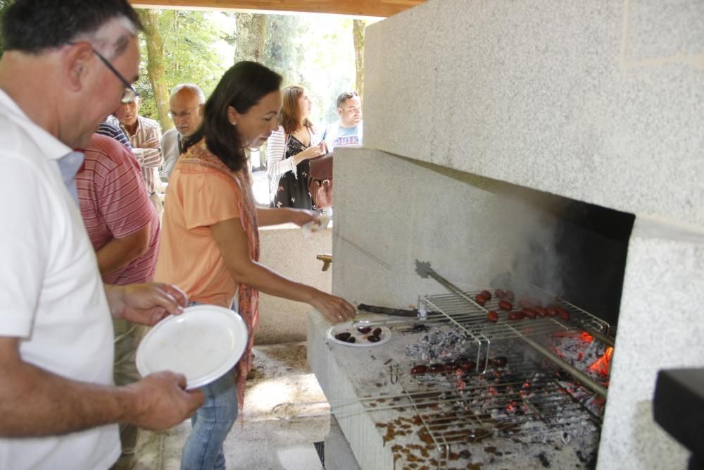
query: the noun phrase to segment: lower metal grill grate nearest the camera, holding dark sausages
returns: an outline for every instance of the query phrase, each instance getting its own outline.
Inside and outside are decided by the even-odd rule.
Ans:
[[[486,373],[411,374],[410,366],[398,372],[425,428],[421,439],[437,450],[439,468],[452,451],[488,438],[531,442],[598,433],[603,401],[594,400],[601,397],[560,380],[552,369],[511,365],[518,362],[520,357],[509,357],[508,366],[489,366]]]

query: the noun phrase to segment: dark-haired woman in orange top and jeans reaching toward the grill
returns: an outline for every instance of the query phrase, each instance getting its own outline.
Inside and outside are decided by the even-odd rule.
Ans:
[[[258,263],[258,226],[317,220],[310,211],[254,205],[245,149],[259,147],[278,127],[280,84],[279,75],[258,63],[239,62],[227,70],[169,179],[156,278],[180,286],[194,303],[229,308],[236,299],[249,328],[233,373],[202,388],[206,402],[191,419],[182,469],[225,469],[222,443],[244,402],[260,290],[307,302],[332,322],[355,314],[344,299]]]

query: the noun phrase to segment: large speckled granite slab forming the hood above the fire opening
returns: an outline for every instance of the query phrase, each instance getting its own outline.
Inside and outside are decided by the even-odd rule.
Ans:
[[[370,25],[365,147],[704,225],[704,4],[428,1]]]

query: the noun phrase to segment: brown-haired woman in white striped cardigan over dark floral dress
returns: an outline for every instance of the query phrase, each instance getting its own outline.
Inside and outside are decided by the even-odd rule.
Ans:
[[[315,209],[308,193],[308,160],[325,154],[325,142],[314,142],[315,130],[308,119],[311,103],[306,89],[290,85],[284,87],[282,94],[280,127],[267,144],[272,207]]]

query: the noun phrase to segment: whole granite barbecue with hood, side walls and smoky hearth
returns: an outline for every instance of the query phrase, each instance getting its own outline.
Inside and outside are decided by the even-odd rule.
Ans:
[[[686,468],[652,400],[660,369],[704,365],[702,25],[698,0],[430,0],[367,28],[364,147],[335,151],[333,292],[419,307],[448,292],[416,273],[429,261],[463,292],[508,273],[616,333],[603,423],[598,402],[569,437],[512,436],[514,423],[484,438],[467,423],[463,445],[439,454],[444,430],[417,427],[428,410],[464,416],[438,396],[458,381],[420,381],[410,367],[423,359],[406,354],[434,332],[391,325],[384,344],[349,347],[314,312],[309,361],[361,468]],[[562,359],[592,354],[580,335],[562,339]],[[552,369],[531,350],[505,345],[510,369],[490,366],[492,380],[543,383],[530,374]]]

